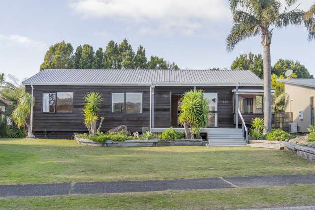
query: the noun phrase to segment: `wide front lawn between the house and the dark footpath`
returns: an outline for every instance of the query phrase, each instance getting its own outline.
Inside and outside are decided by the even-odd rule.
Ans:
[[[314,174],[315,162],[251,147],[79,146],[75,140],[1,139],[0,184]]]

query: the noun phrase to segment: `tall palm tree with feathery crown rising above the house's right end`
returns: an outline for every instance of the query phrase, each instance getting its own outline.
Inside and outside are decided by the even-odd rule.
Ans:
[[[228,51],[246,38],[261,36],[264,49],[264,134],[271,131],[271,61],[270,44],[273,27],[303,24],[303,11],[288,7],[281,13],[280,0],[229,0],[233,26],[226,39]]]

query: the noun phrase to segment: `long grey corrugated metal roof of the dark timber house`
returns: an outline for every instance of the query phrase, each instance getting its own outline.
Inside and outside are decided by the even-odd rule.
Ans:
[[[262,85],[250,70],[46,69],[24,85]]]

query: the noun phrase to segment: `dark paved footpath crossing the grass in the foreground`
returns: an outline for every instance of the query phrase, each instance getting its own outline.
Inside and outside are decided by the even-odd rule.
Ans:
[[[284,186],[293,184],[315,184],[315,175],[0,185],[0,197],[219,189],[243,186]]]

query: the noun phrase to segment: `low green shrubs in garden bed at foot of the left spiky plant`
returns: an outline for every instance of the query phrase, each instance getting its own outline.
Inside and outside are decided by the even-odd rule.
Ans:
[[[125,141],[128,139],[134,139],[133,136],[130,136],[129,132],[121,131],[121,132],[110,132],[109,134],[103,134],[103,132],[97,132],[96,135],[87,135],[87,134],[78,134],[80,138],[93,140],[98,143],[105,143],[107,140],[113,141]]]

